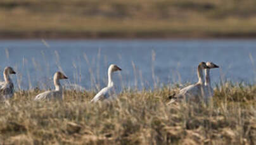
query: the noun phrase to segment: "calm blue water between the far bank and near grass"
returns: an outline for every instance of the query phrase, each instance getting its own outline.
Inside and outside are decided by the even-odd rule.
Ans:
[[[254,59],[254,61],[253,61]],[[117,64],[118,86],[152,87],[197,81],[196,67],[212,61],[212,83],[255,83],[256,40],[0,40],[0,71],[13,66],[16,88],[53,87],[54,72],[83,88],[102,88],[106,71]]]

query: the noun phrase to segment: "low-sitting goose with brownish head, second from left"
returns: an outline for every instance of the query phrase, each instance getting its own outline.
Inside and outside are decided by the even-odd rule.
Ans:
[[[61,72],[55,72],[53,76],[53,82],[55,86],[55,90],[53,91],[44,91],[44,93],[40,93],[39,95],[35,96],[35,100],[50,100],[50,99],[60,99],[62,100],[62,87],[60,84],[60,79],[68,79]]]

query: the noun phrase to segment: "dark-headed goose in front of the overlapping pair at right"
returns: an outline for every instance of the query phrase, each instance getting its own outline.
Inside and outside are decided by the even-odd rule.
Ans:
[[[205,90],[205,79],[203,78],[203,69],[209,69],[210,67],[207,66],[205,62],[200,62],[200,64],[197,67],[197,76],[198,76],[198,82],[196,84],[191,84],[187,86],[186,88],[183,88],[177,95],[169,96],[171,100],[167,105],[170,103],[173,103],[176,100],[181,99],[198,99],[198,97],[204,96],[204,90]]]

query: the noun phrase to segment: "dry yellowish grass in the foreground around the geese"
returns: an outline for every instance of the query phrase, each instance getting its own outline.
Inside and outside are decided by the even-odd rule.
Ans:
[[[177,90],[126,90],[96,104],[91,91],[65,91],[63,102],[18,91],[0,105],[0,144],[255,144],[256,86],[217,86],[209,106],[165,105]]]

